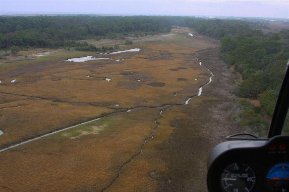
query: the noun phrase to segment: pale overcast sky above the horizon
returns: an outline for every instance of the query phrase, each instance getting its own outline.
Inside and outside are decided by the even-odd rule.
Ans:
[[[289,18],[289,0],[0,0],[0,15],[59,13]]]

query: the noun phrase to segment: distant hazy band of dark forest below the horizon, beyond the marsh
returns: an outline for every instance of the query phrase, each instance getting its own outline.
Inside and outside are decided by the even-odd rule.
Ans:
[[[94,38],[124,39],[169,33],[173,26],[193,27],[215,38],[231,37],[250,29],[236,20],[206,20],[172,16],[31,16],[0,17],[0,48],[74,47],[75,40]],[[262,24],[261,24],[262,25]],[[259,25],[261,27],[261,25]],[[85,45],[84,45],[85,46]],[[15,47],[14,47],[15,49]],[[94,50],[94,47],[86,46]]]

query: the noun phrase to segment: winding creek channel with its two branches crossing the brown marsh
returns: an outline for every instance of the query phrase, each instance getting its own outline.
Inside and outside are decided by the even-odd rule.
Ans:
[[[135,51],[135,50],[134,50],[134,51]],[[201,61],[200,61],[198,58],[196,58],[196,60],[199,62],[200,67],[205,67],[205,66],[202,65]],[[119,171],[118,171],[118,175],[116,176],[116,178],[110,183],[110,185],[108,185],[107,187],[105,187],[102,191],[106,191],[107,189],[109,189],[109,188],[116,182],[116,180],[117,180],[117,179],[120,177],[120,175],[121,175],[121,171],[122,171],[123,166],[125,166],[126,164],[129,164],[131,161],[133,161],[133,159],[134,159],[136,156],[138,156],[139,154],[142,153],[143,148],[144,148],[145,144],[147,143],[147,140],[148,140],[148,139],[153,139],[153,138],[154,138],[154,133],[155,133],[155,131],[157,131],[157,129],[161,126],[161,124],[158,122],[158,119],[162,118],[162,113],[163,113],[164,111],[166,111],[167,109],[169,109],[169,108],[171,108],[171,107],[173,107],[173,106],[187,105],[187,104],[189,103],[189,101],[190,101],[193,97],[199,97],[199,96],[202,94],[202,88],[203,88],[204,86],[208,85],[209,83],[211,83],[211,82],[212,82],[212,77],[214,77],[214,74],[211,72],[211,70],[210,70],[208,67],[205,67],[205,68],[211,73],[208,82],[205,83],[205,84],[203,84],[203,85],[201,85],[201,86],[199,87],[199,92],[198,92],[197,95],[192,95],[192,96],[190,96],[184,103],[182,103],[182,104],[177,104],[177,103],[163,104],[162,106],[155,106],[155,107],[151,107],[151,106],[138,106],[138,107],[134,107],[134,108],[131,108],[131,109],[122,109],[122,111],[120,111],[121,113],[129,113],[129,112],[132,111],[132,110],[140,109],[140,108],[159,108],[159,109],[160,109],[160,113],[159,113],[158,117],[154,120],[155,123],[156,123],[156,127],[155,127],[154,130],[151,132],[151,136],[144,139],[144,142],[143,142],[143,144],[141,145],[141,147],[140,147],[140,149],[139,149],[139,152],[136,153],[136,154],[134,154],[134,155],[132,155],[131,158],[130,158],[128,161],[126,161],[125,163],[123,163],[123,164],[120,166]],[[87,77],[89,77],[89,76],[87,76]],[[98,77],[97,77],[97,78],[98,78]],[[107,78],[107,77],[99,77],[99,78]],[[106,79],[106,80],[107,80],[107,79]],[[108,80],[108,81],[109,81],[109,80]],[[175,93],[175,95],[176,95],[176,94],[177,94],[177,93]],[[112,114],[115,114],[115,113],[119,113],[119,111],[112,112],[112,113],[110,113],[110,114],[108,114],[108,115],[112,115]],[[82,122],[82,123],[79,123],[79,124],[76,124],[76,125],[73,125],[73,126],[70,126],[70,127],[66,127],[66,128],[63,128],[63,129],[59,129],[59,130],[57,130],[57,131],[53,131],[53,132],[50,132],[50,133],[47,133],[47,134],[44,134],[44,135],[41,135],[41,136],[32,138],[32,139],[29,139],[29,140],[20,142],[20,143],[18,143],[18,144],[11,145],[11,146],[9,146],[9,147],[7,147],[7,148],[1,149],[0,152],[3,152],[3,151],[6,151],[6,150],[8,150],[8,149],[12,149],[12,148],[18,147],[18,146],[20,146],[20,145],[23,145],[23,144],[26,144],[26,143],[29,143],[29,142],[32,142],[32,141],[41,139],[41,138],[43,138],[43,137],[46,137],[46,136],[49,136],[49,135],[52,135],[52,134],[59,133],[59,132],[61,132],[61,131],[67,130],[67,129],[71,129],[71,128],[76,127],[76,126],[79,126],[79,125],[83,125],[83,124],[86,124],[86,123],[90,123],[90,122],[93,122],[93,121],[97,121],[97,120],[99,120],[99,119],[101,119],[101,118],[103,118],[103,117],[106,117],[106,116],[108,116],[108,115],[103,115],[103,116],[101,116],[101,117],[98,117],[98,118],[95,118],[95,119],[92,119],[92,120],[89,120],[89,121],[86,121],[86,122]],[[3,134],[3,132],[0,130],[0,135],[1,135],[1,133]],[[172,133],[172,135],[173,135],[173,133]],[[172,138],[172,136],[171,136],[171,138]]]

